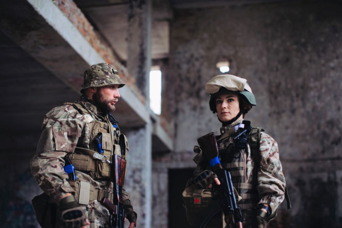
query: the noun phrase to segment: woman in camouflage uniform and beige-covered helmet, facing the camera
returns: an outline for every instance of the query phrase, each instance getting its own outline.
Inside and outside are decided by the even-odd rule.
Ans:
[[[218,120],[222,123],[221,135],[216,136],[218,157],[222,167],[230,171],[233,185],[242,197],[237,204],[242,210],[243,227],[265,228],[276,216],[277,208],[285,198],[286,184],[278,145],[271,136],[262,132],[263,130],[259,133],[260,161],[256,161],[252,154],[251,142],[240,148],[237,146],[237,139],[234,139],[250,123],[243,118],[256,105],[252,89],[246,81],[233,75],[218,75],[206,84],[205,90],[211,95],[210,109],[217,113]],[[201,148],[195,146],[194,151],[198,153],[193,159],[197,166],[185,191],[211,189],[215,194],[215,187],[221,183],[211,170],[212,166],[203,156]],[[186,209],[189,213],[189,208]],[[188,221],[193,222],[188,214],[187,216]],[[226,222],[226,218],[217,215],[207,227],[225,227]]]

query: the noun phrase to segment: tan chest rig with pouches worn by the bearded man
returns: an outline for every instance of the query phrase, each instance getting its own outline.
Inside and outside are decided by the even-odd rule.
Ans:
[[[85,116],[89,127],[89,135],[83,135],[77,143],[75,152],[69,155],[71,163],[76,170],[85,172],[94,180],[109,180],[112,155],[117,154],[126,159],[128,151],[126,136],[120,134],[114,117],[100,117],[81,104],[71,105]],[[86,148],[87,144],[88,148]]]

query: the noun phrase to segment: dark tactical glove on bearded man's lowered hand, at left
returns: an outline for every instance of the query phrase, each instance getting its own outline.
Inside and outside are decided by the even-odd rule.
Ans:
[[[84,207],[81,207],[73,195],[64,197],[59,204],[64,227],[80,228],[87,225]]]

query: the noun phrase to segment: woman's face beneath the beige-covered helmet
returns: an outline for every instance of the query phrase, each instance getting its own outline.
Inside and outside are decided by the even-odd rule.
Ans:
[[[232,120],[240,111],[238,95],[235,93],[222,94],[216,97],[217,117],[222,122]],[[238,120],[242,119],[242,115]]]

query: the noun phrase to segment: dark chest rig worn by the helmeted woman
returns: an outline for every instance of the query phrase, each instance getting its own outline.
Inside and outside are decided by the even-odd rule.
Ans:
[[[232,182],[238,194],[242,199],[238,202],[241,209],[255,208],[259,201],[259,195],[256,189],[256,167],[251,160],[251,132],[254,129],[250,127],[247,121],[242,122],[244,128],[233,135],[222,134],[217,139],[218,154],[221,165],[231,173]],[[243,134],[241,134],[246,130]],[[241,138],[240,138],[241,137]],[[253,145],[254,146],[254,145]]]

